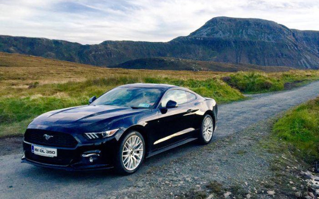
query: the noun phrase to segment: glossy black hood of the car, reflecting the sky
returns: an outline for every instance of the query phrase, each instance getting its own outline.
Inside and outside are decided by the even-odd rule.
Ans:
[[[83,125],[96,122],[112,122],[151,109],[132,109],[130,107],[108,105],[86,105],[71,107],[42,114],[31,125]],[[107,121],[108,120],[108,121]]]

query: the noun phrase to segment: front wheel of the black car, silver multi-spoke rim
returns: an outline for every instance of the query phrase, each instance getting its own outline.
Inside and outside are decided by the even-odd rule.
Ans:
[[[130,147],[133,145],[133,147]],[[145,157],[145,141],[137,131],[129,131],[120,141],[115,155],[115,169],[118,173],[129,175],[135,173]]]

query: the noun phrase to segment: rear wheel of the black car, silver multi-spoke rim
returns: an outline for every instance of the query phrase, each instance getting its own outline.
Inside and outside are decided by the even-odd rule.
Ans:
[[[202,126],[198,135],[198,140],[200,144],[209,144],[211,142],[211,138],[214,135],[214,120],[209,115],[204,115]]]

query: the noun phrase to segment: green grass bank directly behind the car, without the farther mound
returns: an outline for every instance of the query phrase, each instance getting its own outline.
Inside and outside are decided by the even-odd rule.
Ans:
[[[173,84],[187,87],[219,103],[244,99],[241,92],[218,78],[183,80],[170,78],[98,78],[84,82],[37,85],[14,96],[0,97],[0,136],[22,134],[28,121],[50,110],[85,105],[93,95],[100,96],[118,85],[136,82]]]

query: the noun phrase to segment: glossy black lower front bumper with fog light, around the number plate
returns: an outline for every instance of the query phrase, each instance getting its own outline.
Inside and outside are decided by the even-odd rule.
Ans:
[[[67,171],[101,170],[113,167],[114,156],[110,149],[114,146],[111,143],[78,145],[75,148],[44,146],[56,148],[57,157],[36,155],[31,151],[32,145],[32,143],[24,141],[22,163]]]

